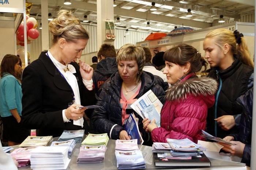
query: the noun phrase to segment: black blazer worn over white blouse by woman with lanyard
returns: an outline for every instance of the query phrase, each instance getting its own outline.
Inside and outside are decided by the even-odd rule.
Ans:
[[[79,65],[71,63],[78,81],[81,105],[94,104],[94,90],[88,90],[82,80]],[[63,130],[80,130],[73,120],[63,122],[62,110],[68,108],[74,97],[72,89],[61,76],[53,62],[42,52],[37,60],[28,65],[22,80],[22,123],[29,129],[37,129],[39,136],[60,136]],[[86,114],[90,112],[86,111]],[[86,120],[83,129],[89,130]]]

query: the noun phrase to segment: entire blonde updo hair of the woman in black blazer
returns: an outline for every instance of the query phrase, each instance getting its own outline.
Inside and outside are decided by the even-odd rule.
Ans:
[[[75,42],[75,39],[89,39],[89,34],[80,24],[80,20],[68,10],[58,12],[57,18],[49,23],[49,31],[53,34],[53,44],[59,38],[64,38],[67,42]]]

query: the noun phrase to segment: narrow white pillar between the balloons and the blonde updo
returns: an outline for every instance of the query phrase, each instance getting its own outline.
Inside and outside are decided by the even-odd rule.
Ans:
[[[41,14],[42,14],[42,51],[49,49],[49,27],[48,27],[48,1],[41,0]]]

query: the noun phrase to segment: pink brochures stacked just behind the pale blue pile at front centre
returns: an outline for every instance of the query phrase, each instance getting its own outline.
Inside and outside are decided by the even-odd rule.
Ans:
[[[123,151],[131,151],[131,150],[139,150],[138,148],[138,139],[132,140],[116,140],[116,150],[123,150]]]

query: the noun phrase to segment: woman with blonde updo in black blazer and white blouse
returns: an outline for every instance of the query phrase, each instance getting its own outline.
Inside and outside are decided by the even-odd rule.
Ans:
[[[53,45],[23,72],[23,124],[38,136],[60,136],[85,129],[85,109],[94,103],[93,68],[79,61],[89,35],[71,11],[61,10],[49,23]],[[88,100],[90,98],[90,100]]]

